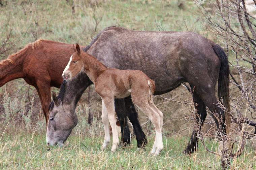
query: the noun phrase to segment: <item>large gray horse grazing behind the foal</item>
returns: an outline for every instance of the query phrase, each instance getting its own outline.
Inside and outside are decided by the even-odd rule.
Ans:
[[[182,82],[188,82],[193,91],[194,105],[197,107],[196,118],[199,128],[201,129],[205,120],[205,107],[207,106],[213,113],[211,114],[219,132],[228,133],[229,113],[217,105],[218,100],[215,96],[218,79],[218,96],[229,110],[228,59],[224,50],[213,41],[193,32],[136,31],[121,27],[108,27],[101,31],[83,50],[93,55],[106,67],[143,71],[155,81],[154,95],[167,93],[180,86]],[[90,83],[85,83],[85,86],[89,86]],[[66,87],[64,92],[69,94],[68,91],[72,90],[74,89]],[[54,103],[58,103],[58,106],[54,103],[50,105],[47,144],[63,144],[76,125],[76,121],[65,122],[65,119],[60,118],[61,115],[76,117],[74,113],[76,103],[72,102],[71,98],[66,97],[66,101],[63,101],[63,98],[65,99],[65,93],[61,97],[54,97]],[[130,107],[134,108],[130,97],[126,98],[124,102],[130,102]],[[116,107],[125,107],[122,104],[124,102],[122,99],[116,99]],[[135,109],[131,112],[137,116]],[[132,116],[129,116],[129,119],[132,119]],[[121,120],[121,127],[126,127],[125,118],[122,118],[120,114],[119,120]],[[66,126],[65,129],[58,126],[61,123],[68,123],[69,129]],[[140,136],[140,132],[142,131],[136,131],[135,127],[136,138]],[[127,138],[129,137],[122,136],[122,141],[126,142]],[[142,141],[144,140],[143,137]],[[185,152],[195,151],[197,142],[194,130]]]

